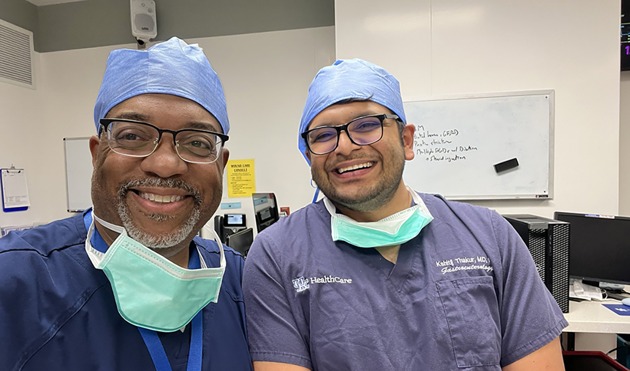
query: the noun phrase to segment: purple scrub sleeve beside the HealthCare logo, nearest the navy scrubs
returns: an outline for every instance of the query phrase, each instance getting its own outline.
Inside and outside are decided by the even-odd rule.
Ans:
[[[266,234],[258,234],[249,249],[243,272],[243,297],[251,359],[281,362],[312,369],[306,319],[301,309],[292,309],[285,287],[280,253]],[[294,295],[290,293],[289,295]],[[302,331],[301,331],[302,329]]]

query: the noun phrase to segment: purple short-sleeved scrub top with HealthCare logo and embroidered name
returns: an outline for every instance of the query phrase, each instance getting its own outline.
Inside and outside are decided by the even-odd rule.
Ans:
[[[568,325],[512,227],[421,194],[435,218],[396,265],[331,238],[323,202],[258,234],[243,277],[253,361],[312,370],[493,370]]]

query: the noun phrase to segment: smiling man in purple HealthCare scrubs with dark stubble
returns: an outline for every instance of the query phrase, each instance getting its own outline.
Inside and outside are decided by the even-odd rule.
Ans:
[[[406,186],[413,137],[381,67],[312,81],[299,148],[325,197],[249,251],[256,371],[564,370],[567,322],[524,243],[496,212]]]

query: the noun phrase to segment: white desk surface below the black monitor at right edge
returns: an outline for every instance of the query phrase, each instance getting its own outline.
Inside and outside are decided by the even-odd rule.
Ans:
[[[603,304],[621,304],[612,300],[604,302],[569,302],[569,312],[564,318],[569,326],[568,333],[614,333],[630,334],[630,316],[619,316]]]

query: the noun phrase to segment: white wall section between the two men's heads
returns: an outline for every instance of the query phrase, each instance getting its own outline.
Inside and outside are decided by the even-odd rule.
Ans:
[[[230,158],[255,159],[256,192],[274,192],[292,212],[314,193],[297,131],[309,84],[335,62],[334,38],[325,27],[188,40],[207,52],[226,91]]]

